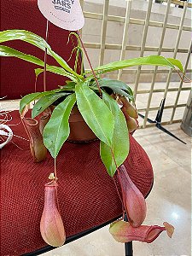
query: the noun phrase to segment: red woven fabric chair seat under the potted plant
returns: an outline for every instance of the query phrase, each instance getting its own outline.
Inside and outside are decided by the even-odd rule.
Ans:
[[[18,111],[11,113],[12,124],[20,123]],[[10,125],[9,123],[8,125]],[[26,137],[20,123],[10,126],[14,134]],[[45,247],[39,230],[44,208],[44,184],[54,172],[54,160],[34,163],[29,143],[14,137],[1,150],[1,255],[20,255]],[[130,154],[125,167],[144,196],[153,183],[148,155],[130,136]],[[68,236],[104,224],[122,213],[113,178],[102,164],[99,142],[65,143],[56,160],[58,199]],[[110,235],[109,235],[110,236]]]

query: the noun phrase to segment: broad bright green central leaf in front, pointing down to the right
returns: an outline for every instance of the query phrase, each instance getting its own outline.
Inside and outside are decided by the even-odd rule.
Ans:
[[[114,119],[107,105],[84,83],[75,87],[77,103],[84,121],[102,142],[112,143]]]

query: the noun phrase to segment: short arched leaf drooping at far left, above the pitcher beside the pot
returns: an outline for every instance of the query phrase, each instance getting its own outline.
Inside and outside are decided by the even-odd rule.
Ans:
[[[31,94],[27,94],[20,100],[20,113],[22,113],[23,109],[28,105],[30,102],[35,101],[39,99],[42,96],[54,94],[55,92],[59,92],[61,89],[56,90],[49,90],[44,92],[33,92]]]

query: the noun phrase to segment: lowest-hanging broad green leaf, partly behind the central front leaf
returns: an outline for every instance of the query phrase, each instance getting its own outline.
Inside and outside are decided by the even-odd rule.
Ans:
[[[113,131],[113,141],[112,148],[108,147],[106,143],[101,142],[100,154],[103,164],[108,170],[108,174],[113,177],[116,172],[116,165],[113,160],[113,156],[117,166],[123,164],[127,155],[129,154],[130,144],[129,144],[129,133],[125,121],[125,116],[120,110],[117,102],[113,100],[111,96],[103,92],[102,99],[111,109],[114,117],[114,131]],[[111,152],[113,151],[113,154]]]

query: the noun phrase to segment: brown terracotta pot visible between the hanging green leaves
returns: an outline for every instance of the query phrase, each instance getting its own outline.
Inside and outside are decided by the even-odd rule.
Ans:
[[[67,139],[69,142],[86,143],[98,139],[85,123],[78,107],[75,105],[69,117],[70,134]]]

